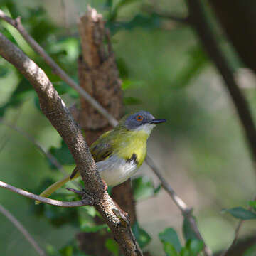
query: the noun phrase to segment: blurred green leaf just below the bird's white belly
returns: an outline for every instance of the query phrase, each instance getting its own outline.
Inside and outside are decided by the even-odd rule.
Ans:
[[[132,188],[134,191],[134,199],[136,201],[154,196],[155,193],[153,182],[146,176],[134,178],[132,180]]]

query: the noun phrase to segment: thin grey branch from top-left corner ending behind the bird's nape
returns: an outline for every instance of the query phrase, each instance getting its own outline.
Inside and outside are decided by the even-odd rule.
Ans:
[[[82,97],[87,100],[95,109],[100,112],[100,114],[103,115],[107,119],[107,121],[112,124],[112,126],[116,126],[118,124],[117,120],[112,117],[112,115],[105,110],[102,105],[100,105],[99,102],[97,102],[91,95],[89,95],[85,90],[82,89],[73,79],[71,79],[67,73],[63,69],[60,68],[60,66],[55,63],[55,61],[50,58],[48,53],[29,35],[29,33],[26,31],[26,29],[23,27],[21,23],[21,17],[18,17],[16,19],[12,19],[6,14],[4,14],[4,11],[0,10],[0,18],[4,21],[11,24],[11,26],[14,26],[18,30],[19,33],[23,36],[23,38],[27,41],[27,43],[33,48],[33,50],[36,51],[43,60],[46,61],[46,63],[50,66],[50,68],[53,69],[53,72],[58,75],[62,80],[64,80],[70,87],[73,87]]]

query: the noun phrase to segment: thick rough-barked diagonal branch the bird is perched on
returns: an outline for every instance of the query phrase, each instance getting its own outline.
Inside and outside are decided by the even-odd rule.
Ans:
[[[142,251],[134,243],[129,229],[119,225],[120,220],[112,211],[117,206],[104,189],[102,179],[97,171],[95,161],[92,159],[85,138],[46,74],[1,33],[0,55],[12,63],[36,90],[41,110],[67,144],[75,159],[80,176],[85,183],[85,188],[94,198],[95,208],[111,228],[124,255],[142,255]]]

